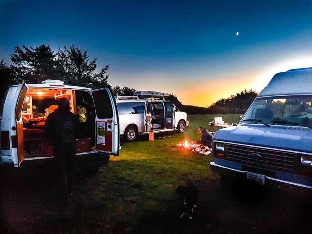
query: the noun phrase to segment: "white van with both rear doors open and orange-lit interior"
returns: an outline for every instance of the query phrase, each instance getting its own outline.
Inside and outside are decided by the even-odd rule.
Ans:
[[[94,160],[104,155],[109,159],[109,154],[119,155],[118,111],[110,86],[92,90],[64,85],[61,80],[45,80],[8,88],[0,109],[1,165],[19,167],[23,161],[53,158],[53,145],[45,140],[43,127],[61,97],[70,101],[71,112],[83,115],[77,158]]]

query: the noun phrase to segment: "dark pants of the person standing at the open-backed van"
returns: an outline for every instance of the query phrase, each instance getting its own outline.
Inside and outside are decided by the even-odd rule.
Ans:
[[[76,143],[54,144],[53,154],[60,175],[61,198],[68,199],[74,184]]]

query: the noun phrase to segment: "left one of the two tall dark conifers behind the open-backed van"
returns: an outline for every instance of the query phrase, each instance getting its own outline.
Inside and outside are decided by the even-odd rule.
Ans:
[[[22,45],[14,47],[11,55],[12,70],[17,79],[23,79],[30,83],[40,83],[47,79],[60,79],[60,74],[56,69],[54,51],[49,45],[26,47]]]

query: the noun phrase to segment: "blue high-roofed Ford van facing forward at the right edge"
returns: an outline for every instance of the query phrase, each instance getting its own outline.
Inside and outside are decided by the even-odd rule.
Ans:
[[[212,139],[213,172],[287,190],[312,189],[312,68],[277,73],[237,126]]]

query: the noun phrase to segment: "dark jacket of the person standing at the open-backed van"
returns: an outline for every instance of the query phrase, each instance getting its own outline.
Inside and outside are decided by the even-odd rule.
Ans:
[[[78,118],[69,110],[52,112],[44,125],[45,137],[53,139],[54,144],[75,143],[77,139]]]

